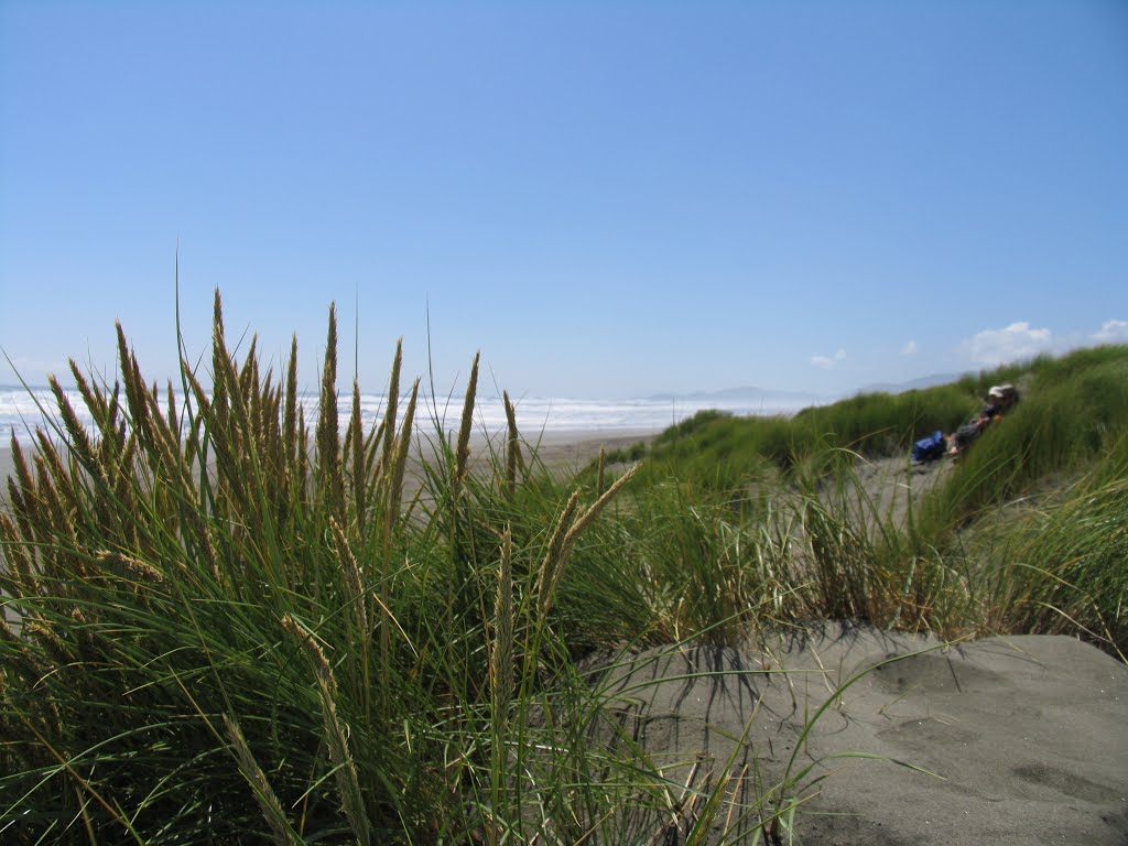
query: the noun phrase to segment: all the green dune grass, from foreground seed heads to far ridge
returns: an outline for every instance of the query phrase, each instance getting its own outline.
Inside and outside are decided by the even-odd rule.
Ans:
[[[281,378],[254,343],[238,361],[217,296],[210,391],[187,362],[175,394],[148,385],[118,331],[117,382],[72,365],[97,431],[54,385],[54,429],[12,443],[6,843],[642,844],[676,793],[704,809],[687,841],[735,817],[774,843],[795,785],[721,813],[725,774],[672,783],[592,653],[834,618],[1128,642],[1128,347],[791,420],[702,414],[637,469],[562,478],[511,408],[470,455],[476,361],[453,438],[418,424],[398,351],[382,421],[363,430],[354,385],[338,431],[329,315],[316,421],[297,342]],[[1023,403],[942,484],[902,515],[866,490],[856,456],[904,456],[1003,380]]]

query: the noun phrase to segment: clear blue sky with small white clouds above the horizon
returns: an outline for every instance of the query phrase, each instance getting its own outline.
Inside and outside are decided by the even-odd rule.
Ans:
[[[1112,0],[0,0],[0,345],[845,393],[1128,342],[1126,150]]]

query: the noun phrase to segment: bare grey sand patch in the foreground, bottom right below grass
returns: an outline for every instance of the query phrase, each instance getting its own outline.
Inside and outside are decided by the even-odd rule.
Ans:
[[[786,782],[793,754],[792,776],[810,766],[782,790],[807,797],[797,843],[1128,843],[1128,667],[1069,637],[943,649],[924,636],[827,626],[743,650],[651,650],[602,684],[675,781],[693,763],[698,779],[728,769],[741,776],[739,801],[752,803]],[[831,698],[795,752],[802,726]],[[835,757],[849,752],[888,760]],[[720,819],[735,834],[739,805],[729,813]],[[669,831],[666,841],[680,839]]]

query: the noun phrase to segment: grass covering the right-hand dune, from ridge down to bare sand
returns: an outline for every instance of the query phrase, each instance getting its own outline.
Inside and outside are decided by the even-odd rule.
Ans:
[[[1001,382],[1020,385],[1022,403],[955,467],[935,465],[945,473],[931,492],[911,493],[913,439],[951,431]],[[1109,562],[1126,442],[1123,346],[791,418],[702,412],[654,439],[624,505],[644,631],[728,643],[851,618],[952,637],[1073,632],[1122,651],[1128,596]],[[899,511],[862,475],[883,458],[904,461]]]

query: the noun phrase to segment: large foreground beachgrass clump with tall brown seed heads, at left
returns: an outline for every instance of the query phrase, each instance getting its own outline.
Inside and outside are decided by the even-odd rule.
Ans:
[[[12,441],[5,843],[610,843],[611,808],[658,801],[571,742],[600,712],[557,611],[629,473],[567,492],[512,414],[475,464],[476,362],[458,437],[421,437],[398,350],[382,420],[354,385],[342,432],[332,310],[315,421],[297,342],[280,380],[240,362],[218,293],[210,390],[118,354],[113,385],[72,364],[95,431],[52,380],[55,429]]]

